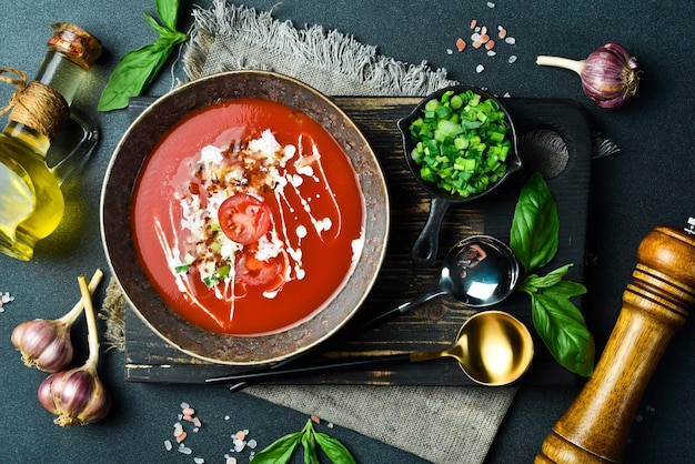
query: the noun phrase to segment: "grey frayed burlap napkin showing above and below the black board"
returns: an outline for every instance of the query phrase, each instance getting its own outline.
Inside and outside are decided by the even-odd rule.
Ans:
[[[198,9],[193,16],[193,40],[183,57],[190,79],[263,69],[329,95],[424,95],[454,83],[444,70],[433,71],[424,62],[399,62],[320,26],[299,30],[271,12],[215,0],[210,10]],[[245,392],[434,463],[477,463],[485,458],[516,389],[321,385],[253,386]]]

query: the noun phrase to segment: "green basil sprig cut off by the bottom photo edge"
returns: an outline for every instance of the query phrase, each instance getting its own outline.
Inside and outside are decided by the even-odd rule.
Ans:
[[[306,420],[306,425],[300,432],[291,433],[278,438],[268,447],[253,456],[253,464],[284,464],[289,463],[299,445],[304,448],[304,463],[319,464],[316,445],[335,464],[355,464],[355,460],[348,448],[338,440],[325,433],[316,432],[313,421]]]

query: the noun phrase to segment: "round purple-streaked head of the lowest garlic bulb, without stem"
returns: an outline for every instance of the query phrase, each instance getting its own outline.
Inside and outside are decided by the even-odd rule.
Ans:
[[[49,375],[38,395],[43,408],[58,416],[53,423],[62,427],[101,421],[111,410],[109,392],[97,373],[84,366]]]

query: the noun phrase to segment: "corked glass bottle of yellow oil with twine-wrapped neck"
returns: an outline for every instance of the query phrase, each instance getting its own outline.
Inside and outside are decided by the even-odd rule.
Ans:
[[[27,84],[20,71],[0,70],[20,77],[2,79],[18,89],[0,133],[0,251],[23,261],[33,256],[36,243],[53,232],[63,215],[60,184],[67,170],[49,168],[46,157],[60,123],[70,117],[69,105],[83,77],[102,51],[99,40],[77,26],[61,22],[52,29],[32,82]]]

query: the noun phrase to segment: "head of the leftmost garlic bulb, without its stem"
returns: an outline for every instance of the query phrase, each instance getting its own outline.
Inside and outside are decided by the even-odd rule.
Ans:
[[[29,367],[59,372],[72,362],[70,326],[59,321],[36,319],[22,322],[12,331],[12,344]]]

